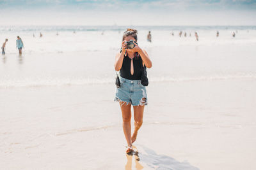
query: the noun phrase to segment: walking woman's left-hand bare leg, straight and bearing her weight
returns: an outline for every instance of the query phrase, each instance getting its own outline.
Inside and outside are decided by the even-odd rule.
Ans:
[[[120,101],[119,104],[122,110],[124,136],[126,138],[127,145],[131,147],[131,104],[126,104],[122,101]]]

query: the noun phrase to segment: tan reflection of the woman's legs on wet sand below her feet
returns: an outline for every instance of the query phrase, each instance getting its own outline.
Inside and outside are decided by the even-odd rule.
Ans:
[[[135,159],[135,167],[136,170],[141,170],[144,167],[141,166],[140,164],[140,157],[139,157],[139,152],[138,149],[136,148],[136,146],[132,146],[132,148],[134,149],[134,152],[131,153],[127,153],[126,157],[127,157],[127,163],[125,165],[125,170],[132,170],[132,157],[134,157]]]

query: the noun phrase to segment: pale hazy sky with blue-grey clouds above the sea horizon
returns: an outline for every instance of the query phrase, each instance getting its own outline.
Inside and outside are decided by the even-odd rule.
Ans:
[[[256,25],[256,0],[0,0],[0,25]]]

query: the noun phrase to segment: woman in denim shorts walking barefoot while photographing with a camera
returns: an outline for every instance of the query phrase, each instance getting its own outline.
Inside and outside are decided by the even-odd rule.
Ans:
[[[127,48],[127,41],[134,41],[134,48]],[[147,105],[147,91],[141,85],[143,66],[152,67],[145,50],[138,46],[137,31],[127,29],[124,32],[121,52],[116,54],[115,70],[120,71],[121,87],[116,89],[115,101],[122,110],[123,130],[127,141],[126,153],[133,152],[132,143],[136,140],[142,125],[144,106]],[[131,105],[134,110],[134,132],[131,136]]]

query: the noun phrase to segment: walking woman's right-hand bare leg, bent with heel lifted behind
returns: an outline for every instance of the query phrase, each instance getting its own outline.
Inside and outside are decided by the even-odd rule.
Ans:
[[[144,105],[143,106],[133,106],[134,110],[134,132],[132,134],[132,143],[137,138],[138,131],[143,123],[143,112],[144,112]]]

